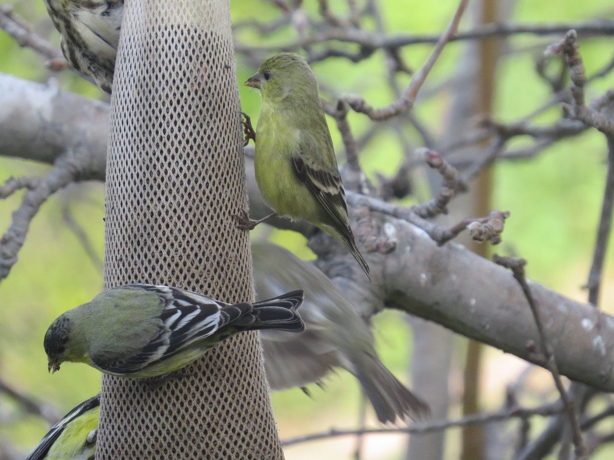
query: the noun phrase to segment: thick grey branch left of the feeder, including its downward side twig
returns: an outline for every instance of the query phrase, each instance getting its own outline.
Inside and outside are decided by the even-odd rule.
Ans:
[[[33,85],[7,75],[0,75],[0,88],[4,102],[0,107],[1,155],[53,164],[45,177],[10,178],[0,188],[0,198],[19,188],[28,189],[0,239],[2,280],[17,262],[29,225],[47,198],[72,182],[104,177],[109,109],[106,104],[60,93],[53,86]],[[93,125],[86,128],[88,123]]]

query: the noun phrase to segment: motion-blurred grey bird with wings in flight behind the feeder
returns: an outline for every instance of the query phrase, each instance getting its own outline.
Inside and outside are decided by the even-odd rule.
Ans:
[[[301,318],[306,332],[300,340],[281,331],[260,333],[271,389],[305,386],[333,367],[343,367],[359,380],[382,423],[394,422],[397,416],[405,420],[429,415],[426,402],[379,360],[368,324],[327,276],[269,243],[253,245],[252,255],[258,296],[297,285],[305,288]]]

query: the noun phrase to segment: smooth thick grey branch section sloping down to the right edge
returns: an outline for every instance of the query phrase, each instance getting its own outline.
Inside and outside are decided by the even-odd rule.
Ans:
[[[522,290],[507,270],[453,243],[433,251],[435,243],[409,224],[398,223],[396,229],[398,247],[406,248],[406,254],[386,259],[388,306],[543,366],[526,348],[529,340],[538,340],[537,329]],[[561,374],[614,389],[614,359],[608,358],[614,347],[608,338],[614,318],[537,283],[530,286],[542,307],[546,333],[553,337]]]

